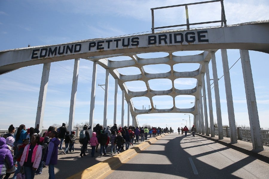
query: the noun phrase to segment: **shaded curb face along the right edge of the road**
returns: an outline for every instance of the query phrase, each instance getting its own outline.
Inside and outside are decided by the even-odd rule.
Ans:
[[[208,137],[208,136],[205,136],[205,135],[201,135],[201,134],[197,134],[197,133],[195,133],[195,135],[198,135],[198,136],[200,136],[200,137],[203,137],[203,138],[209,139],[209,140],[211,140],[211,141],[220,143],[220,144],[222,144],[222,145],[224,145],[224,146],[230,147],[230,148],[232,148],[232,149],[234,149],[234,150],[237,150],[237,151],[239,151],[239,152],[242,152],[242,153],[244,153],[244,154],[246,154],[246,155],[253,156],[253,157],[255,157],[255,158],[257,158],[257,159],[259,159],[259,160],[261,160],[261,161],[264,161],[264,162],[266,162],[266,163],[269,163],[269,157],[257,153],[257,152],[260,152],[260,151],[257,151],[257,152],[256,152],[256,151],[253,151],[253,150],[243,149],[243,148],[238,147],[238,146],[235,146],[235,145],[233,145],[233,144],[231,144],[231,143],[226,143],[226,142],[224,142],[224,141],[220,141],[220,140],[218,140],[218,139],[214,139],[214,138],[211,138],[211,137]]]

